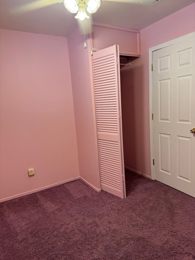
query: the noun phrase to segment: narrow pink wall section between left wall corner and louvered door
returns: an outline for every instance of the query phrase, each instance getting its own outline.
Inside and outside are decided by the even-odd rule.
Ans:
[[[99,190],[100,176],[96,163],[97,137],[94,135],[89,53],[88,47],[84,49],[84,36],[79,34],[79,30],[69,35],[68,48],[80,177]]]

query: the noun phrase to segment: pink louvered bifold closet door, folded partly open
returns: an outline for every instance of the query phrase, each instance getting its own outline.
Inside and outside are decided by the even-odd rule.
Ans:
[[[94,95],[101,189],[126,198],[118,48],[94,52]]]

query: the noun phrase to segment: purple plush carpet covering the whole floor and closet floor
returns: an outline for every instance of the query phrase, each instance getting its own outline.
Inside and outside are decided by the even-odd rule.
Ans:
[[[126,191],[75,180],[0,203],[0,259],[195,259],[195,198],[131,172]]]

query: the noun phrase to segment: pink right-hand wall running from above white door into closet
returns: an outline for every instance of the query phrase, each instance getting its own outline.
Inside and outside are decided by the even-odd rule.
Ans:
[[[129,146],[124,148],[125,162],[126,166],[147,176],[151,176],[148,50],[195,31],[194,14],[195,3],[141,30],[141,57],[131,62],[128,73],[121,72],[128,80],[126,90],[122,91],[127,99],[123,117],[129,113],[129,123],[124,132]]]

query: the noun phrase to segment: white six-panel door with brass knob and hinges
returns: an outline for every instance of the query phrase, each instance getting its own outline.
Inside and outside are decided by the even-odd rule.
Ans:
[[[155,179],[195,197],[195,37],[153,52]]]

